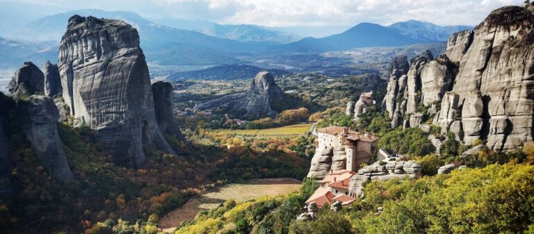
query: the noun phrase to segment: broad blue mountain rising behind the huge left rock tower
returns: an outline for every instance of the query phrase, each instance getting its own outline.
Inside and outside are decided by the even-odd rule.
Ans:
[[[60,40],[72,15],[121,19],[138,29],[141,47],[149,62],[160,65],[199,65],[238,62],[237,56],[261,53],[273,42],[238,42],[203,33],[161,26],[134,12],[74,10],[35,19],[19,35],[36,40]],[[46,33],[42,33],[46,32]]]

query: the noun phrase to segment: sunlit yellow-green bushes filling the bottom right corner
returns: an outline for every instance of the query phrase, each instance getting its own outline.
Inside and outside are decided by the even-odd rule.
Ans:
[[[321,210],[313,222],[292,224],[290,233],[531,233],[533,173],[533,165],[507,164],[414,181],[373,181],[364,201],[340,214]]]

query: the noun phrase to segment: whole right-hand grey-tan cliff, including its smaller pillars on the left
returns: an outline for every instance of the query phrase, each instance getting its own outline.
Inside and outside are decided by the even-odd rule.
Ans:
[[[494,10],[474,31],[451,35],[437,60],[421,56],[407,76],[392,72],[384,101],[391,125],[404,119],[403,126],[416,127],[434,116],[442,134],[451,131],[466,145],[480,139],[489,149],[510,151],[533,142],[534,10],[528,7]]]

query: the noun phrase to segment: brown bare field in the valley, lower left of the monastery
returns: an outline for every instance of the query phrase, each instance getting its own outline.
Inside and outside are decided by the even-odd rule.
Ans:
[[[269,178],[216,187],[209,192],[193,197],[181,208],[163,216],[159,221],[159,226],[165,231],[172,231],[181,222],[195,219],[195,215],[200,210],[217,208],[220,203],[224,203],[227,199],[240,202],[264,196],[285,195],[297,191],[300,184],[300,181],[293,178]]]

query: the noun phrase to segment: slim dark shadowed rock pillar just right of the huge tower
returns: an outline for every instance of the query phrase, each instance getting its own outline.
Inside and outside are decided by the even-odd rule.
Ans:
[[[158,122],[161,133],[172,135],[173,137],[185,141],[186,138],[181,134],[180,128],[174,117],[174,108],[172,107],[172,85],[163,81],[153,83],[152,94],[154,94],[156,122]]]

